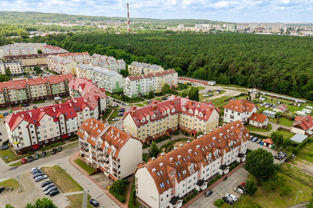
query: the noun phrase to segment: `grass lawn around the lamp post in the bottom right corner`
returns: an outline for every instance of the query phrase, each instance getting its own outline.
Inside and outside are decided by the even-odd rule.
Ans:
[[[253,196],[245,196],[244,199],[236,205],[236,207],[255,207],[253,204],[256,202],[264,208],[283,208],[310,200],[313,189],[282,173],[278,173],[278,175],[283,176],[286,179],[285,186],[291,187],[291,193],[280,196],[280,187],[276,187],[275,190],[265,191],[263,186],[257,186],[258,190],[255,192],[255,194]],[[302,193],[299,192],[297,202],[295,202],[298,190],[302,191]]]

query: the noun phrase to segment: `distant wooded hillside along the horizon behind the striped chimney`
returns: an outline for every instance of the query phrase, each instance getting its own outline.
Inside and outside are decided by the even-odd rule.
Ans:
[[[83,16],[60,13],[42,12],[9,12],[0,11],[0,23],[36,24],[37,22],[60,22],[60,21],[126,21],[126,17],[104,17],[104,16]],[[130,18],[131,22],[152,22],[152,23],[172,23],[172,24],[225,24],[229,22],[219,22],[206,19],[151,19],[151,18]]]

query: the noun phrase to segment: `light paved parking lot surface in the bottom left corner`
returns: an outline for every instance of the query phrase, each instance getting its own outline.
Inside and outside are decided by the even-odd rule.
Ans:
[[[44,181],[49,181],[49,178],[35,182],[29,170],[23,171],[19,176],[19,182],[25,191],[21,193],[18,192],[18,189],[3,191],[1,193],[0,207],[5,207],[9,203],[14,207],[25,207],[27,203],[34,204],[38,198],[42,199],[44,197],[52,199],[53,203],[59,208],[64,208],[71,204],[63,193],[53,197],[44,195],[44,191],[42,191],[40,186]]]

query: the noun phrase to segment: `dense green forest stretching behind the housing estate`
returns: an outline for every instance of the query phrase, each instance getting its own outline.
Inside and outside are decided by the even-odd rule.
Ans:
[[[171,34],[170,34],[171,33]],[[70,52],[89,52],[174,68],[180,76],[313,100],[312,37],[256,34],[191,34],[145,30],[138,34],[80,32],[1,38],[0,45],[46,42]]]

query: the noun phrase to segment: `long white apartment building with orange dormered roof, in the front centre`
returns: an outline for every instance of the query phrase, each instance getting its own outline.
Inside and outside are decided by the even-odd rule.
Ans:
[[[167,154],[139,164],[134,175],[137,199],[150,208],[179,208],[193,190],[205,190],[214,176],[227,174],[246,159],[249,132],[234,121]]]

